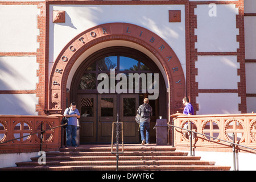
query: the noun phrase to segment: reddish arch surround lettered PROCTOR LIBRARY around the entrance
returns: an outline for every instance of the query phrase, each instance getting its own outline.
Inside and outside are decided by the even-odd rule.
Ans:
[[[185,96],[185,77],[180,61],[171,47],[158,35],[154,34],[154,32],[143,27],[129,23],[108,23],[90,28],[77,35],[63,48],[63,51],[61,51],[60,55],[57,57],[49,78],[49,114],[56,112],[63,113],[68,105],[67,96],[69,94],[72,100],[76,99],[77,102],[80,102],[78,98],[74,97],[77,95],[73,89],[75,85],[70,86],[71,82],[73,84],[73,78],[79,75],[80,70],[81,72],[83,71],[83,69],[80,69],[81,66],[83,66],[84,69],[90,66],[89,61],[85,61],[84,63],[85,59],[88,60],[94,52],[104,47],[111,47],[113,42],[119,42],[118,46],[125,46],[127,43],[133,44],[133,46],[130,47],[143,49],[141,52],[150,57],[151,62],[153,61],[155,63],[154,67],[158,68],[160,73],[162,73],[165,83],[159,90],[165,92],[166,98],[163,102],[159,101],[159,106],[164,106],[168,120],[172,113],[182,108],[181,100],[182,97]],[[92,51],[92,53],[88,53],[89,51]],[[104,51],[101,53],[104,53]],[[143,61],[140,63],[143,63]],[[150,67],[150,65],[148,65],[148,67]],[[80,74],[82,75],[82,73]],[[67,88],[72,88],[72,93],[68,93]],[[98,96],[92,96],[91,98],[95,98],[97,101],[100,99]],[[104,98],[108,97],[104,96]],[[114,99],[115,98],[113,98],[113,100]],[[118,101],[118,98],[116,99]],[[120,99],[121,97],[119,100]],[[122,110],[120,108],[121,107],[119,107],[119,110]]]

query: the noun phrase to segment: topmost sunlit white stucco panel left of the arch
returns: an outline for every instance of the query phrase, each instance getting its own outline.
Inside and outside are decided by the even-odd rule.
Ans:
[[[36,52],[39,13],[36,5],[0,5],[0,52]]]

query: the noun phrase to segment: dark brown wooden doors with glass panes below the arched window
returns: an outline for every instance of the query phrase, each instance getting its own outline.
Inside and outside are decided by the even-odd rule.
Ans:
[[[123,122],[124,142],[139,142],[138,124],[134,120],[138,107],[139,94],[80,94],[80,143],[110,143],[117,114]]]

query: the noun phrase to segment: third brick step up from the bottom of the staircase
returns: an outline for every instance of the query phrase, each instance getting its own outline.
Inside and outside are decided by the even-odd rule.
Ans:
[[[116,156],[47,156],[47,161],[116,160]],[[200,160],[200,156],[119,156],[119,160]],[[31,158],[37,162],[38,158]]]

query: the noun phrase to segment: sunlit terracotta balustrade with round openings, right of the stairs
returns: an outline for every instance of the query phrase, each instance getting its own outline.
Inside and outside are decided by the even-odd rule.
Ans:
[[[178,115],[178,116],[177,116]],[[192,134],[193,150],[231,152],[230,144],[226,140],[242,146],[256,148],[256,114],[220,114],[220,115],[173,115],[173,124],[188,129],[192,123],[192,131],[209,135]],[[177,150],[189,150],[189,134],[183,129],[174,129],[174,145]],[[236,146],[237,150],[249,151],[248,148]]]

